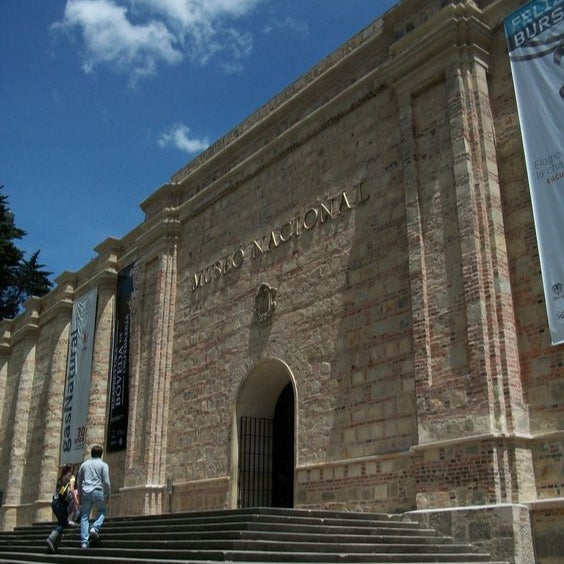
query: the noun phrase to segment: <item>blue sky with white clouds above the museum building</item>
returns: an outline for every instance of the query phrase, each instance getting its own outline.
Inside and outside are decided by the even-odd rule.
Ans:
[[[0,184],[55,278],[397,0],[2,0]]]

